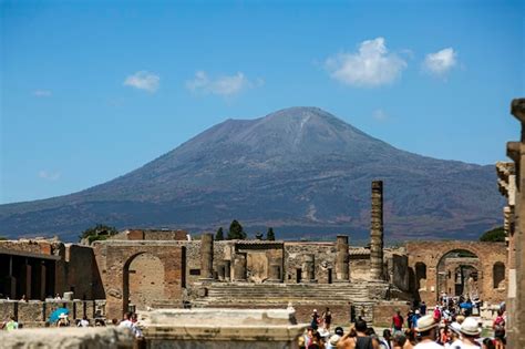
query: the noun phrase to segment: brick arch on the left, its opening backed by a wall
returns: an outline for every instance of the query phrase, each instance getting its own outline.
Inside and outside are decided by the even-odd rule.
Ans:
[[[157,257],[164,266],[165,301],[177,304],[182,300],[185,287],[185,249],[176,242],[119,242],[101,243],[105,254],[105,275],[103,277],[106,295],[106,317],[121,318],[127,311],[128,287],[127,270],[137,256],[150,254]],[[161,300],[162,301],[162,300]]]

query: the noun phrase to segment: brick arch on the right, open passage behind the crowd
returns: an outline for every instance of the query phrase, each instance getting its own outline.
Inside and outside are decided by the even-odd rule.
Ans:
[[[413,242],[406,243],[406,254],[409,257],[409,268],[415,270],[416,263],[424,263],[426,266],[426,289],[419,290],[414,295],[416,299],[428,304],[434,304],[437,298],[437,266],[442,258],[454,250],[467,250],[476,255],[480,259],[478,270],[485,280],[493,279],[493,266],[495,263],[506,261],[505,243],[481,243],[463,240],[443,242]],[[505,278],[507,275],[505,274]],[[494,289],[493,283],[481,283],[480,294],[483,300],[500,302],[505,298],[505,292]],[[418,290],[416,290],[418,291]]]

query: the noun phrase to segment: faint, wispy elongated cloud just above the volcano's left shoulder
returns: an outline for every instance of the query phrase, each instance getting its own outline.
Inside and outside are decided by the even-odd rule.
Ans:
[[[196,93],[217,94],[222,96],[231,96],[240,93],[243,90],[257,88],[264,84],[261,79],[250,81],[241,72],[234,75],[222,75],[210,79],[205,71],[197,71],[195,78],[186,82],[186,88]]]

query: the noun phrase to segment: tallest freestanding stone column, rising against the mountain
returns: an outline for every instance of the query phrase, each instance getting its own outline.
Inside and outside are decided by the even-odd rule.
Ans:
[[[383,182],[372,182],[370,277],[383,279]]]

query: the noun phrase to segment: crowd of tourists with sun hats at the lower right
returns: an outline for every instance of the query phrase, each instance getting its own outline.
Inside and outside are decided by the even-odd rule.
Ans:
[[[299,338],[299,348],[305,349],[505,349],[505,308],[493,321],[492,337],[482,337],[478,318],[464,311],[456,302],[436,305],[428,311],[421,304],[408,312],[406,319],[400,310],[392,316],[391,327],[379,336],[359,317],[344,332],[342,327],[330,331],[332,316],[329,309],[319,316],[311,315],[311,324]],[[472,309],[472,308],[469,308]],[[326,321],[328,314],[328,322]]]

